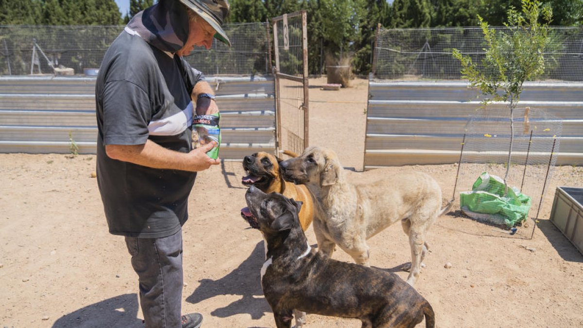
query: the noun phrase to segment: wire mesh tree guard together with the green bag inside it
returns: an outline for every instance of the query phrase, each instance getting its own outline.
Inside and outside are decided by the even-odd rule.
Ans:
[[[515,109],[512,122],[513,133],[504,108],[480,110],[469,118],[454,194],[469,217],[507,228],[538,217],[563,131],[562,120],[530,107]]]

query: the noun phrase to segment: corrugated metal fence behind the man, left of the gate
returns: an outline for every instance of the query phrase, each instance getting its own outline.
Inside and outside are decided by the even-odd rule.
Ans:
[[[0,77],[0,152],[96,153],[95,78]],[[271,76],[212,77],[222,113],[222,159],[275,152]]]

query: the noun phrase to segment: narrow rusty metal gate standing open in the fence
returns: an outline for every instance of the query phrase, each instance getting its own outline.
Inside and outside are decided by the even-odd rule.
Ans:
[[[308,34],[305,11],[272,19],[275,52],[276,151],[308,146]]]

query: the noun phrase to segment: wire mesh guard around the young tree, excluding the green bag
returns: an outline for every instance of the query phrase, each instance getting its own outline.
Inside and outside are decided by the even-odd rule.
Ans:
[[[536,218],[541,197],[544,197],[552,177],[563,123],[551,114],[531,107],[515,109],[512,121],[514,140],[506,182],[509,189],[515,187],[519,193],[531,197],[528,218]],[[459,210],[460,193],[472,191],[472,184],[481,173],[487,172],[504,179],[510,135],[508,107],[485,107],[469,117],[454,193],[455,209]],[[486,191],[490,192],[488,188]],[[502,219],[510,219],[501,212],[497,215]],[[492,217],[486,221],[501,224],[498,219]]]

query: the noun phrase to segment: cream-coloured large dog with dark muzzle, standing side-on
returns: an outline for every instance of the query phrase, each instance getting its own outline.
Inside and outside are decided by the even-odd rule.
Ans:
[[[306,148],[279,165],[284,179],[305,184],[314,195],[314,232],[319,250],[328,256],[338,245],[356,263],[370,266],[366,240],[401,221],[411,246],[407,282],[415,284],[429,248],[425,233],[451,205],[441,210],[436,180],[421,172],[394,175],[375,169],[357,173],[360,182],[353,184],[346,180],[336,153],[321,147]]]

